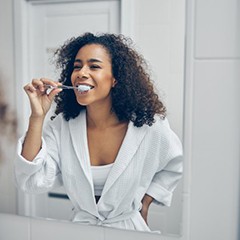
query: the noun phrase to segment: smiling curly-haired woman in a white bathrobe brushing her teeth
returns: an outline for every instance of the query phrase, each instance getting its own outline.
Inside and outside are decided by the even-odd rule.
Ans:
[[[150,204],[170,206],[181,178],[182,147],[130,45],[113,34],[72,38],[56,52],[60,81],[33,79],[24,87],[31,116],[18,145],[16,179],[30,193],[64,185],[73,221],[150,231]],[[55,117],[42,136],[54,97]]]

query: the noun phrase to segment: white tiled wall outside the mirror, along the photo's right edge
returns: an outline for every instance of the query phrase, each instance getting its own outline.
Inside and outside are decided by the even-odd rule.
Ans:
[[[192,94],[189,239],[237,240],[240,161],[240,2],[189,1]],[[192,79],[192,80],[191,80]],[[186,103],[189,106],[189,103]]]

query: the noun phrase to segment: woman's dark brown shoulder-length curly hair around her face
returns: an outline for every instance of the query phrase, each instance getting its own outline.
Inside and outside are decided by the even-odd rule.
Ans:
[[[117,84],[111,90],[112,111],[119,121],[132,121],[134,126],[151,126],[155,114],[166,116],[166,108],[154,91],[147,73],[147,63],[134,50],[132,40],[123,35],[85,33],[69,39],[55,52],[56,66],[61,69],[59,82],[71,84],[71,74],[75,57],[85,45],[99,44],[111,59],[112,74]],[[66,121],[79,115],[85,106],[80,105],[73,91],[62,91],[56,98],[55,114],[62,113]]]

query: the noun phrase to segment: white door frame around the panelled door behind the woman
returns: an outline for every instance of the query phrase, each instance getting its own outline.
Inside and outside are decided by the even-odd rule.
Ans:
[[[14,28],[14,66],[15,66],[15,93],[16,93],[16,112],[18,120],[17,136],[23,135],[26,129],[25,121],[28,114],[26,106],[28,106],[27,98],[23,91],[24,79],[29,78],[29,29],[28,17],[30,4],[32,3],[67,3],[67,2],[86,2],[86,0],[13,0],[13,28]],[[101,0],[88,0],[101,1]],[[111,0],[105,0],[111,1]],[[119,0],[120,1],[120,33],[134,38],[134,17],[135,17],[135,1],[136,0]],[[17,212],[20,215],[32,216],[33,211],[30,206],[33,204],[32,197],[25,195],[21,191],[17,193]]]

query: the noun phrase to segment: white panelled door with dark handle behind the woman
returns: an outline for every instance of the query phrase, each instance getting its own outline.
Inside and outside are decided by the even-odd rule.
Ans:
[[[30,79],[58,79],[50,59],[54,50],[67,39],[84,32],[120,32],[119,0],[47,2],[32,0],[28,8]],[[56,219],[71,216],[72,206],[63,188],[32,196],[30,203],[31,216]]]

